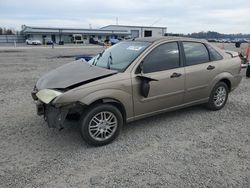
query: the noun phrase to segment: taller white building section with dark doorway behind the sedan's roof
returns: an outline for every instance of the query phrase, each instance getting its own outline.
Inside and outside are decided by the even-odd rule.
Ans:
[[[150,27],[150,26],[128,26],[128,25],[108,25],[102,27],[103,30],[126,30],[132,38],[138,37],[160,37],[167,33],[166,27]]]

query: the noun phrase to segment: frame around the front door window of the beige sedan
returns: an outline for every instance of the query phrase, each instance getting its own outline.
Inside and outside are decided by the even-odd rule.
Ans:
[[[144,73],[144,74],[151,74],[151,73],[155,73],[155,72],[163,72],[163,71],[168,71],[168,70],[172,70],[172,69],[178,69],[178,68],[181,68],[184,66],[184,59],[182,57],[182,50],[181,50],[181,42],[180,41],[164,41],[163,43],[160,43],[158,44],[157,46],[154,46],[144,57],[143,57],[143,60],[141,62],[144,62],[144,60],[148,57],[148,55],[154,51],[156,48],[162,46],[162,45],[165,45],[165,44],[169,44],[169,43],[176,43],[177,44],[177,47],[178,47],[178,51],[179,51],[179,67],[176,67],[176,68],[171,68],[171,69],[165,69],[165,70],[160,70],[160,71],[153,71],[153,72],[147,72],[147,73]],[[140,64],[140,63],[139,63]],[[135,69],[135,73],[137,73],[138,71],[138,68],[139,68],[139,65],[137,66],[137,68]]]

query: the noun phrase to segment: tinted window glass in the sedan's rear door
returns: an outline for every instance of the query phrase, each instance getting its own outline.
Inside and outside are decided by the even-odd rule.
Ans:
[[[209,62],[209,54],[204,44],[199,42],[183,42],[186,65],[197,65]]]

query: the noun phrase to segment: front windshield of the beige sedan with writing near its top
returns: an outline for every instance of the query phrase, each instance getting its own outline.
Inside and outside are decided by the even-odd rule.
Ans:
[[[88,63],[123,72],[150,44],[136,41],[120,42],[92,58]]]

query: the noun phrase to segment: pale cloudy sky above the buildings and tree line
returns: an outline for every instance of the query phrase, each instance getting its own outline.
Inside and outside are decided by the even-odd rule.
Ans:
[[[0,0],[0,27],[167,27],[168,33],[250,33],[249,0]]]

